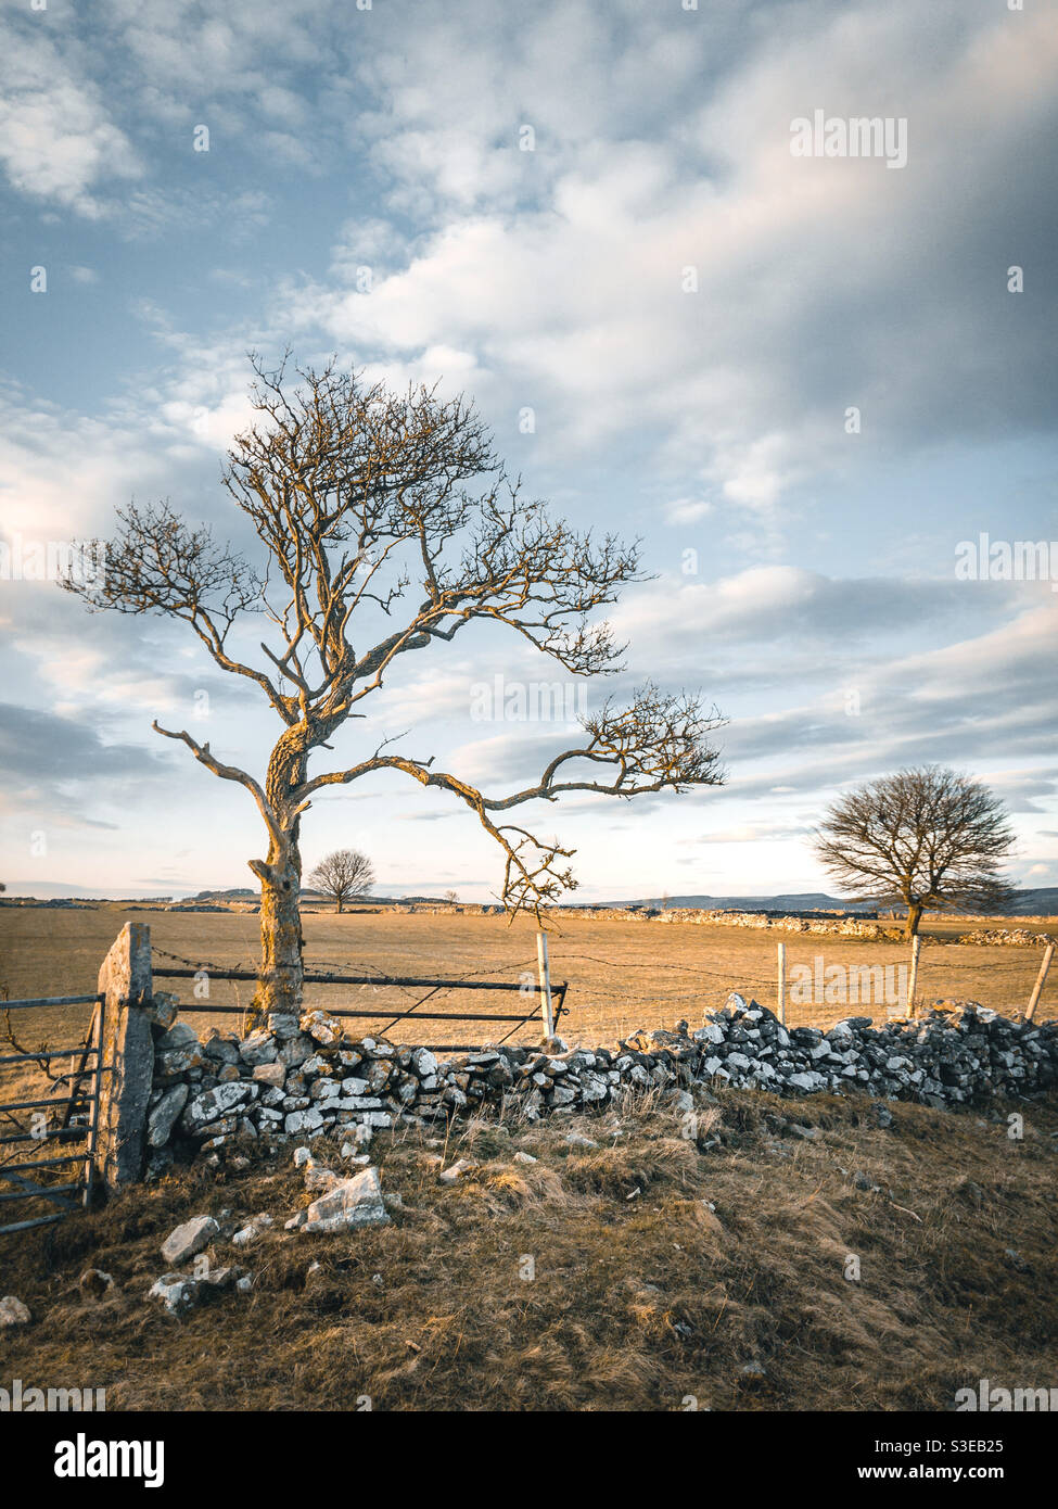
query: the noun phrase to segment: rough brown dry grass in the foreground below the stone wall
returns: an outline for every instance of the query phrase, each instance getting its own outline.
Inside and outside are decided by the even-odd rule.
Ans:
[[[106,1387],[110,1409],[370,1396],[374,1409],[673,1411],[688,1394],[714,1409],[946,1409],[983,1376],[1049,1385],[1058,1106],[1029,1108],[1020,1142],[1001,1111],[892,1112],[877,1130],[863,1100],[727,1091],[699,1129],[723,1139],[709,1151],[655,1097],[542,1127],[454,1123],[435,1145],[401,1130],[373,1147],[401,1201],[391,1224],[331,1237],[282,1231],[309,1198],[290,1150],[240,1176],[186,1169],[0,1237],[3,1292],[35,1316],[5,1335],[3,1372]],[[445,1186],[438,1154],[478,1166]],[[880,1192],[856,1186],[860,1171]],[[252,1293],[166,1317],[143,1298],[160,1242],[222,1210],[226,1233],[276,1218],[249,1249],[213,1252],[254,1272]],[[115,1277],[112,1298],[82,1298],[89,1265]],[[750,1361],[762,1381],[741,1373]]]

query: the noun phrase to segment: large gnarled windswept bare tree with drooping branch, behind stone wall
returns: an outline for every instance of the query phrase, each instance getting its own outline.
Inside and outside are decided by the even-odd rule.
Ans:
[[[638,576],[638,548],[575,533],[507,478],[492,439],[463,397],[436,388],[391,392],[335,362],[287,376],[252,358],[257,420],[238,435],[223,486],[260,540],[254,558],[186,524],[168,502],[118,510],[106,572],[63,585],[94,610],[180,619],[216,664],[260,688],[282,729],[263,779],[219,758],[186,730],[154,729],[187,745],[213,774],[243,786],[269,836],[249,860],[261,883],[258,1013],[297,1011],[302,996],[300,822],[312,797],[400,771],[463,801],[504,854],[509,911],[554,902],[575,881],[572,850],[504,821],[564,792],[637,797],[723,780],[709,733],[715,709],[644,685],[626,706],[607,702],[581,720],[574,747],[539,780],[486,795],[433,756],[367,742],[350,765],[317,765],[343,724],[370,715],[370,697],[406,656],[436,653],[471,623],[504,626],[575,676],[620,668],[623,652],[595,610]],[[98,549],[98,542],[94,542]],[[98,558],[98,557],[97,557]],[[252,614],[270,643],[249,655]]]

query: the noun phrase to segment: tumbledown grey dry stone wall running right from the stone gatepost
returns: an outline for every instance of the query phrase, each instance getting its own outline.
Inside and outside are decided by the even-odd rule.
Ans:
[[[323,1133],[365,1148],[374,1132],[432,1124],[515,1103],[530,1120],[605,1106],[628,1091],[685,1094],[696,1085],[783,1096],[863,1091],[880,1099],[958,1105],[1028,1096],[1058,1082],[1058,1023],[1020,1023],[972,1002],[874,1026],[850,1017],[823,1032],[786,1029],[765,1007],[732,994],[702,1026],[640,1031],[611,1047],[500,1044],[442,1058],[382,1038],[349,1038],[326,1011],[269,1017],[238,1037],[177,1020],[154,999],[154,1085],[148,1176],[202,1156],[240,1156],[243,1139],[272,1147]]]

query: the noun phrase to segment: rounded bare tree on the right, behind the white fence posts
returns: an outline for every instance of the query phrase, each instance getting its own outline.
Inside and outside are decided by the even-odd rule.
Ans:
[[[815,833],[815,853],[853,901],[907,907],[913,937],[927,907],[1001,911],[999,875],[1014,834],[998,797],[940,765],[901,770],[841,797]]]

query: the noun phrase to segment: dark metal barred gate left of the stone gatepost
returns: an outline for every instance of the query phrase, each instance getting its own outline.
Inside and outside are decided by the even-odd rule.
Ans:
[[[103,1064],[104,1052],[104,996],[44,996],[35,1000],[3,1000],[3,1011],[29,1011],[36,1007],[88,1007],[95,1005],[88,1037],[75,1047],[51,1047],[39,1052],[5,1053],[0,1067],[9,1064],[51,1064],[53,1059],[69,1058],[71,1068],[65,1074],[51,1076],[53,1088],[66,1088],[63,1096],[44,1100],[15,1100],[0,1105],[0,1182],[15,1185],[0,1191],[0,1201],[30,1200],[56,1206],[50,1215],[32,1216],[0,1225],[6,1231],[29,1231],[30,1227],[62,1221],[78,1206],[88,1206],[92,1198],[95,1171],[95,1148],[100,1127],[100,1089],[103,1076],[112,1073],[112,1065]],[[36,1112],[30,1126],[24,1124],[21,1112]],[[17,1130],[11,1132],[9,1127]],[[39,1150],[51,1154],[51,1148],[63,1148],[74,1142],[85,1144],[72,1153],[36,1157]],[[26,1144],[32,1144],[30,1148]],[[15,1147],[17,1151],[8,1153]],[[23,1160],[21,1153],[30,1151]],[[63,1169],[80,1165],[75,1179],[65,1179]],[[41,1171],[47,1171],[41,1174]],[[32,1176],[32,1177],[27,1177]],[[0,1213],[5,1207],[0,1204]],[[12,1212],[14,1213],[14,1212]]]

